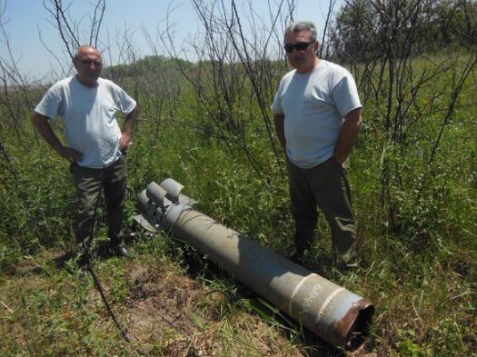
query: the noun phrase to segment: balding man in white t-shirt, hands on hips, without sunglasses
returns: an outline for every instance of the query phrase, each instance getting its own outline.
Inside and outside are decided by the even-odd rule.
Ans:
[[[94,229],[94,212],[101,191],[107,210],[112,253],[128,255],[122,239],[126,165],[124,150],[138,114],[136,102],[113,82],[100,78],[103,59],[90,45],[77,48],[77,74],[52,85],[35,107],[33,122],[45,141],[70,162],[78,197],[76,243],[87,253]],[[123,130],[116,113],[125,114]],[[50,120],[61,116],[67,144],[62,144]]]

